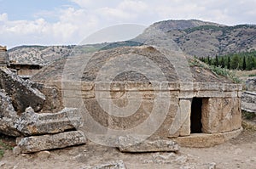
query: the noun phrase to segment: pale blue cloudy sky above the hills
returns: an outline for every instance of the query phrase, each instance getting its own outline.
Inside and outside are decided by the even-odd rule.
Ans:
[[[255,8],[256,0],[0,0],[0,45],[79,44],[109,26],[142,31],[160,20],[256,24]]]

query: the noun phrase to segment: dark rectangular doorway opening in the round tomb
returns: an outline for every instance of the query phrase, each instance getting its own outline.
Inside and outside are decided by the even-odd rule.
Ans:
[[[201,98],[193,98],[191,104],[190,130],[191,133],[201,133]]]

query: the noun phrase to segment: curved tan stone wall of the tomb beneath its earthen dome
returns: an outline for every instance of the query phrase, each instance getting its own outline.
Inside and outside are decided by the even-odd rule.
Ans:
[[[156,102],[156,95],[160,94],[162,103],[158,106],[165,108],[169,104],[167,113],[158,112],[159,116],[164,115],[160,127],[152,138],[175,138],[178,136],[189,136],[191,102],[193,98],[203,100],[201,107],[201,123],[203,133],[230,132],[241,128],[241,85],[223,83],[193,83],[193,88],[183,87],[177,82],[166,82],[166,88],[158,90],[153,84],[136,82],[115,82],[109,84],[94,84],[93,82],[49,82],[55,87],[62,88],[62,97],[67,107],[79,107],[81,104],[88,110],[92,119],[102,127],[127,130],[137,127],[144,121],[151,118],[152,124],[157,116],[150,116]],[[161,84],[163,85],[163,84]],[[165,86],[165,85],[164,85]],[[186,85],[185,85],[186,86]],[[163,99],[168,97],[168,101]],[[118,115],[119,109],[130,102],[141,104],[131,115]],[[100,101],[101,100],[101,101]],[[102,104],[99,104],[101,102]],[[104,105],[105,104],[105,105]],[[103,110],[102,107],[108,107]],[[131,111],[135,109],[131,106]],[[112,112],[113,115],[109,115]],[[164,111],[164,110],[163,110]],[[152,118],[154,117],[154,118]],[[107,131],[106,131],[107,132]]]

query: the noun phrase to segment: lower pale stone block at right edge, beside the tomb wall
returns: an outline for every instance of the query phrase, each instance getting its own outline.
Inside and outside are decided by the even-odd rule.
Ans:
[[[244,92],[241,94],[241,110],[256,113],[256,93]]]

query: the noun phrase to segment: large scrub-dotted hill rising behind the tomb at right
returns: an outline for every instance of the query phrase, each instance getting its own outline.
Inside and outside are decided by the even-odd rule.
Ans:
[[[145,33],[160,29],[184,53],[213,57],[256,49],[256,25],[218,25],[201,20],[166,20],[148,27]]]

